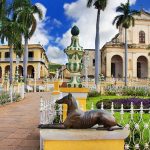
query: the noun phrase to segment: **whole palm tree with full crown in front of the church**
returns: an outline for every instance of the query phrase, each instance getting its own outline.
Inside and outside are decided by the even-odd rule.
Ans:
[[[125,29],[125,86],[127,86],[127,76],[128,76],[128,43],[127,43],[127,29],[130,26],[134,26],[135,19],[133,15],[140,15],[140,12],[137,10],[132,10],[130,7],[129,0],[127,3],[121,3],[120,6],[116,8],[116,12],[121,13],[116,16],[113,20],[113,25],[116,24],[116,27],[119,28],[122,26]]]

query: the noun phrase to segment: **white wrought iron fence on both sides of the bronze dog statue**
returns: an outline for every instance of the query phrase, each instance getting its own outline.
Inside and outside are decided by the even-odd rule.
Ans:
[[[63,109],[61,105],[56,105],[56,98],[43,100],[41,98],[40,106],[40,124],[62,123]],[[94,109],[94,105],[91,105]],[[101,110],[104,110],[104,104],[101,103]],[[125,150],[150,150],[150,108],[144,109],[143,103],[139,109],[134,109],[131,103],[130,109],[115,109],[114,103],[111,104],[110,111],[120,125],[130,130],[129,137],[125,140]]]

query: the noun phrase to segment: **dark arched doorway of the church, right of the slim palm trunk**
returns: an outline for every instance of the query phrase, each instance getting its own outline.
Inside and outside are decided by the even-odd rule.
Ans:
[[[148,60],[145,56],[140,56],[137,59],[137,78],[148,77]]]

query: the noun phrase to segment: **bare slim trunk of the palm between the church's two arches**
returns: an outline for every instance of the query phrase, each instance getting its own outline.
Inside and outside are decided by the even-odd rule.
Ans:
[[[127,28],[125,28],[125,86],[128,82],[128,42],[127,42]]]

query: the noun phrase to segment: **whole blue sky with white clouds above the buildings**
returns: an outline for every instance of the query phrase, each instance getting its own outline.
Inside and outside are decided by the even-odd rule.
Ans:
[[[115,9],[127,0],[108,0],[108,6],[101,13],[100,43],[103,46],[111,40],[118,30],[112,25],[117,15]],[[44,12],[43,21],[38,20],[37,30],[30,43],[40,43],[51,62],[65,64],[63,50],[70,44],[70,29],[77,25],[80,29],[80,45],[94,49],[96,10],[86,7],[87,0],[32,0]],[[133,9],[150,11],[150,0],[130,0]]]

